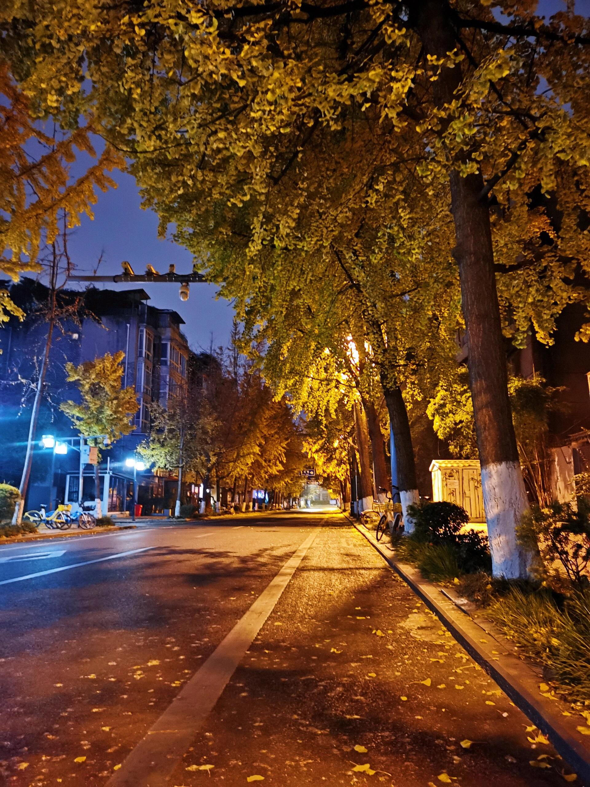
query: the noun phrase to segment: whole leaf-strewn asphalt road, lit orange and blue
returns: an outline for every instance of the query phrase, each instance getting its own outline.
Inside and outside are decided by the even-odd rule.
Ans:
[[[0,547],[0,632],[0,782],[17,787],[570,773],[337,515]]]

